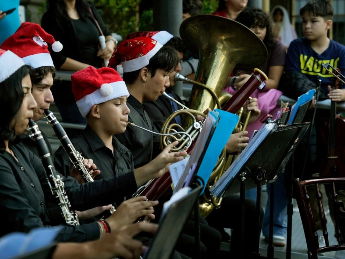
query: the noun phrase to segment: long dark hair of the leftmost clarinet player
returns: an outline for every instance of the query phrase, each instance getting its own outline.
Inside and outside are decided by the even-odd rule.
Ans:
[[[24,92],[22,88],[22,79],[29,75],[30,67],[24,65],[14,72],[9,78],[0,83],[0,103],[6,107],[0,120],[0,152],[6,150],[4,141],[13,142],[16,139],[16,133],[11,127],[11,121],[14,119],[22,105]]]

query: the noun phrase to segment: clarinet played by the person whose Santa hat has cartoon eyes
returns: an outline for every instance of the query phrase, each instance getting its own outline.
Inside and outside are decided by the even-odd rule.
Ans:
[[[95,181],[92,178],[91,172],[84,165],[84,157],[73,146],[72,142],[70,141],[59,121],[56,119],[55,115],[48,109],[45,110],[45,115],[48,123],[53,128],[56,136],[59,138],[63,149],[66,151],[69,160],[76,167],[85,182]],[[113,214],[115,211],[116,209],[113,206],[110,209],[110,213]]]

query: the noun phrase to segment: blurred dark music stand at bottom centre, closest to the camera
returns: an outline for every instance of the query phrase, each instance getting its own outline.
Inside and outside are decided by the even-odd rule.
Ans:
[[[151,240],[144,259],[169,259],[194,204],[199,198],[203,186],[191,190],[180,200],[173,202],[164,217],[159,220],[159,228]],[[169,233],[167,242],[166,235]]]

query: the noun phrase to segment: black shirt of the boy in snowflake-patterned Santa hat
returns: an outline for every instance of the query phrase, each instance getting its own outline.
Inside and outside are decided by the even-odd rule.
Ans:
[[[129,122],[157,132],[149,115],[144,111],[144,107],[135,97],[130,95],[127,99],[127,105],[130,109]],[[126,131],[116,135],[116,138],[132,152],[134,167],[144,165],[160,153],[157,135],[138,127],[128,125]]]

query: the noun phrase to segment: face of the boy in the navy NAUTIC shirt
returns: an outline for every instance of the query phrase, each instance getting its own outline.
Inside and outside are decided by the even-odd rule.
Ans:
[[[318,40],[327,37],[327,30],[331,28],[332,21],[324,20],[321,16],[314,16],[306,12],[302,15],[302,31],[308,40]]]

